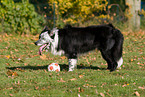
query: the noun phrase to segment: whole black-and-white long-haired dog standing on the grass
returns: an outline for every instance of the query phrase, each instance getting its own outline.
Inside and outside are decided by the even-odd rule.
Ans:
[[[123,64],[123,40],[123,34],[112,24],[88,27],[66,25],[64,28],[52,30],[45,26],[35,45],[41,46],[39,54],[47,48],[54,55],[66,55],[69,71],[77,68],[80,54],[98,49],[108,64],[107,69],[112,72]]]

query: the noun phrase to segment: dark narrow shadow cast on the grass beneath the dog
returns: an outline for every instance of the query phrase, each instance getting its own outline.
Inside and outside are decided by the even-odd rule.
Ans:
[[[59,64],[61,71],[63,70],[68,70],[68,65],[66,64]],[[26,70],[26,69],[30,69],[30,70],[42,70],[42,69],[47,69],[48,65],[45,66],[16,66],[16,67],[6,67],[6,69],[10,69],[10,70]],[[107,70],[106,68],[99,68],[97,66],[84,66],[84,65],[77,65],[77,69],[93,69],[93,70]]]

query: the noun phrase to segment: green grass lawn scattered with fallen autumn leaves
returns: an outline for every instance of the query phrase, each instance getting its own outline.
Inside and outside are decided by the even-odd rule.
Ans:
[[[145,32],[123,32],[124,63],[114,72],[95,50],[79,57],[67,72],[65,56],[38,55],[38,36],[0,35],[0,97],[133,97],[145,96]],[[48,72],[57,62],[60,72]]]

